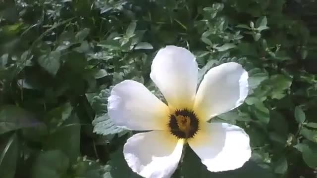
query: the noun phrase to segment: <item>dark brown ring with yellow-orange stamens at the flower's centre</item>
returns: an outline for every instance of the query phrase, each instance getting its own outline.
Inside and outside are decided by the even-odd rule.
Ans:
[[[168,128],[177,138],[193,138],[199,130],[199,119],[192,110],[176,109],[169,116]]]

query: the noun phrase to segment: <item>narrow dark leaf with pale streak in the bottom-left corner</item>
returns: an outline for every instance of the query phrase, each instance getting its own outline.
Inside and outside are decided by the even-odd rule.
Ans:
[[[6,144],[0,145],[0,150],[0,178],[14,178],[19,156],[19,143],[16,134],[12,134],[7,139]]]

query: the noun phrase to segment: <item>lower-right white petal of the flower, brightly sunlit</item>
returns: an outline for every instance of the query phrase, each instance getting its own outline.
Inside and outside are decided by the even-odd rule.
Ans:
[[[207,169],[219,172],[242,167],[251,157],[249,136],[238,126],[206,124],[188,143]]]

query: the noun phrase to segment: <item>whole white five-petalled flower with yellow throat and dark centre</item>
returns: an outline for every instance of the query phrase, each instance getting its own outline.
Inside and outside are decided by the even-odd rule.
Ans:
[[[185,48],[160,49],[151,70],[168,106],[131,80],[116,85],[108,98],[108,114],[117,126],[150,131],[133,135],[124,145],[124,158],[134,172],[145,178],[171,177],[186,142],[211,172],[237,169],[249,160],[250,141],[243,129],[207,123],[247,97],[248,73],[240,64],[212,68],[197,91],[198,65]]]

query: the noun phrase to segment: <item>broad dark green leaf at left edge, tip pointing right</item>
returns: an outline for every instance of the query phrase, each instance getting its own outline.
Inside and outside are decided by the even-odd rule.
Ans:
[[[23,108],[15,105],[4,105],[0,108],[0,134],[39,124],[35,116]]]

